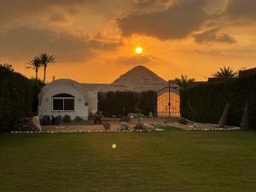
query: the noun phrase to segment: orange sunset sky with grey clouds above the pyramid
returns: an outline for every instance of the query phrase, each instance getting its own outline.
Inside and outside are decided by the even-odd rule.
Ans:
[[[0,0],[0,62],[32,77],[26,62],[47,52],[48,80],[111,83],[137,65],[206,80],[256,67],[255,10],[255,0]]]

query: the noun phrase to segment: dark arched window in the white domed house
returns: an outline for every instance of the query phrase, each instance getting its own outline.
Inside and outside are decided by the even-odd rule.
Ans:
[[[52,97],[53,111],[74,111],[74,96],[58,94]]]

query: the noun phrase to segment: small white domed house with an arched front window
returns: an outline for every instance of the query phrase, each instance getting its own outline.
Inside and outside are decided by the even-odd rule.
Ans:
[[[88,119],[97,111],[97,92],[89,91],[71,79],[58,79],[46,84],[38,96],[38,116],[69,115]]]

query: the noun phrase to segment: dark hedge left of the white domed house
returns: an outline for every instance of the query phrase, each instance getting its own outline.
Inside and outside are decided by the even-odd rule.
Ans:
[[[0,65],[0,132],[11,131],[28,113],[37,112],[41,85]]]

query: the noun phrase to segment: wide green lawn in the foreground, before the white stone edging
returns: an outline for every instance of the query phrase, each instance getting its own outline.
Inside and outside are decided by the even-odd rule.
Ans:
[[[255,190],[256,131],[0,135],[1,192]]]

